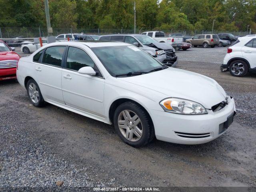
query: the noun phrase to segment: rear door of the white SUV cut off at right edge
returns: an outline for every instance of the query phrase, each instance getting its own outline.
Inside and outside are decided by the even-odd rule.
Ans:
[[[242,55],[248,60],[251,68],[256,67],[256,38],[250,40],[242,47]]]

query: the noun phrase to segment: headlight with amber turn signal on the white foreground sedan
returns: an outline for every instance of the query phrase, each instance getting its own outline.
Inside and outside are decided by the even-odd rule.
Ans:
[[[180,99],[180,98],[167,98],[160,102],[160,105],[166,112],[197,115],[197,114],[208,114],[206,108],[200,103]]]

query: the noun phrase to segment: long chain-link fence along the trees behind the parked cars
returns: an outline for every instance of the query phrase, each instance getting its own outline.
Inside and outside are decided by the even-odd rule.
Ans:
[[[193,31],[178,31],[178,30],[160,30],[165,32],[166,36],[170,34],[178,33],[182,36],[194,36],[196,34],[211,34],[212,30],[193,30]],[[146,29],[137,29],[136,33],[141,34],[145,31],[152,31]],[[53,36],[58,36],[59,34],[67,33],[84,33],[84,34],[133,34],[133,29],[88,29],[88,28],[53,28]],[[232,33],[235,36],[245,36],[248,34],[256,34],[250,31],[213,31],[213,34],[218,33]],[[36,37],[46,37],[47,29],[43,27],[2,27],[0,28],[0,38],[36,38]]]

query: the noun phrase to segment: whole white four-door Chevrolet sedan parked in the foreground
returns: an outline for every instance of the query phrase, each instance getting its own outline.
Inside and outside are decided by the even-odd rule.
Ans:
[[[48,44],[17,67],[30,102],[114,124],[131,146],[158,140],[202,144],[233,121],[234,99],[213,79],[168,68],[123,42]]]

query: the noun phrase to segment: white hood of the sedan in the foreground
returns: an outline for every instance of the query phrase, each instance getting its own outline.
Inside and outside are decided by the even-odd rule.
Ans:
[[[118,79],[140,86],[139,94],[147,93],[145,96],[158,102],[164,98],[177,97],[198,102],[210,109],[226,98],[226,92],[215,80],[176,68]],[[161,94],[162,98],[157,98],[157,94]]]

